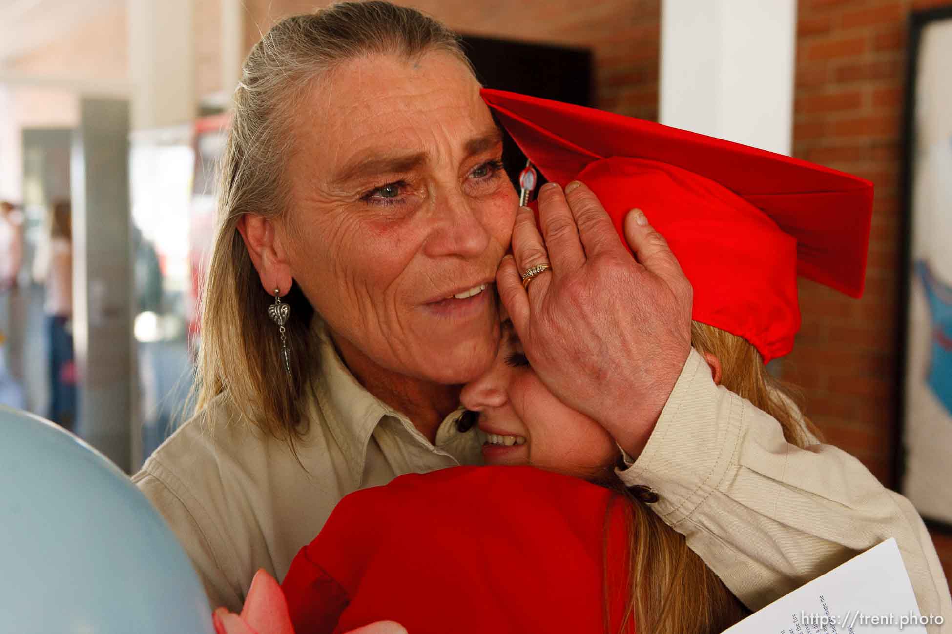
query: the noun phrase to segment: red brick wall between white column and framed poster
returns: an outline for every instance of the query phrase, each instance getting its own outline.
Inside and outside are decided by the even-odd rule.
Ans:
[[[829,442],[897,487],[902,99],[906,19],[949,0],[800,0],[794,155],[876,186],[866,292],[801,281],[803,330],[784,366]],[[952,578],[952,536],[934,533]]]

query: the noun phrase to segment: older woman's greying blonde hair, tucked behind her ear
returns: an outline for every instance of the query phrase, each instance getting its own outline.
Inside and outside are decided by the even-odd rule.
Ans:
[[[446,51],[472,71],[459,38],[423,13],[387,2],[346,2],[275,25],[251,49],[221,161],[218,229],[202,300],[195,412],[218,394],[252,424],[291,443],[303,432],[300,395],[317,372],[310,333],[314,310],[294,284],[283,300],[291,373],[267,317],[264,292],[237,231],[245,214],[282,217],[291,205],[286,160],[293,150],[291,121],[315,83],[334,67],[368,55],[414,59]]]

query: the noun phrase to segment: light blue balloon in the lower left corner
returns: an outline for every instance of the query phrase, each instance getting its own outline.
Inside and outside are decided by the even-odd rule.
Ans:
[[[0,406],[0,632],[211,634],[205,591],[129,477]]]

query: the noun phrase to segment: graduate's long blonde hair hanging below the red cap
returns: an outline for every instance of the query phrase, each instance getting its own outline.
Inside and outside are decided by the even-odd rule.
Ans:
[[[800,411],[799,395],[770,375],[757,349],[740,336],[697,321],[691,324],[691,345],[721,361],[721,385],[750,401],[780,423],[783,437],[798,447],[819,438]],[[628,520],[629,575],[623,588],[605,580],[605,624],[608,598],[630,598],[621,631],[631,620],[651,634],[715,634],[744,618],[749,611],[684,540],[649,509],[638,491],[628,490],[611,471],[607,485],[618,492]],[[605,548],[607,548],[607,542]],[[609,553],[606,549],[606,557]],[[607,570],[609,567],[606,566]]]

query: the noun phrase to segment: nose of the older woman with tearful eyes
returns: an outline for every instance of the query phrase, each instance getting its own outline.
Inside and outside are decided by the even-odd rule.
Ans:
[[[486,252],[490,235],[483,203],[462,192],[449,192],[435,200],[434,225],[426,240],[426,255],[478,258]]]

